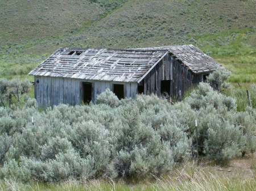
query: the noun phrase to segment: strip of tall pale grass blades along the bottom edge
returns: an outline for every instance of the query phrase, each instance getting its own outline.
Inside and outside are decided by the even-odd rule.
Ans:
[[[213,173],[202,170],[184,172],[177,177],[155,177],[155,181],[146,184],[126,184],[122,181],[93,180],[78,182],[68,180],[59,184],[42,184],[30,182],[27,184],[15,180],[0,181],[0,190],[145,190],[145,191],[166,191],[166,190],[256,190],[256,177],[242,179],[230,179],[224,176],[213,175]]]

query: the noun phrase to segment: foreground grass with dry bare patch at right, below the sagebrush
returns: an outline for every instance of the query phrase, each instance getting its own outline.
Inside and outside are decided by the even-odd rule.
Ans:
[[[237,160],[236,160],[237,162]],[[246,162],[246,159],[245,161]],[[237,162],[242,164],[243,162]],[[236,167],[232,172],[228,168],[206,165],[196,168],[191,163],[183,164],[175,172],[156,177],[151,175],[142,182],[125,182],[123,180],[91,180],[76,181],[66,180],[60,183],[18,182],[15,180],[0,181],[0,190],[255,190],[255,168],[247,173],[247,167]],[[221,169],[221,170],[220,170]],[[245,177],[243,177],[245,175]]]

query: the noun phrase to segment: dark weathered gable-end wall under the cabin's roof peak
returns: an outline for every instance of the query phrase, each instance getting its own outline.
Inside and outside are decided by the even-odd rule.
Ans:
[[[168,95],[180,97],[189,87],[197,86],[202,81],[203,74],[193,74],[174,56],[167,54],[138,84],[138,90],[143,89],[143,94],[146,95],[160,96],[164,94],[163,88],[165,88],[168,90]]]

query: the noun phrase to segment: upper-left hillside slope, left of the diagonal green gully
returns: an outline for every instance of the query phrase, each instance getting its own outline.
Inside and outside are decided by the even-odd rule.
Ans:
[[[125,1],[2,1],[0,43],[23,43],[73,33],[118,9]]]

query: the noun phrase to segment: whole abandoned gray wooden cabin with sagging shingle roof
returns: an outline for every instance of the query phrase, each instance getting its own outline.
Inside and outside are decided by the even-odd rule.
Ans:
[[[40,106],[95,101],[109,88],[119,99],[137,94],[179,97],[221,67],[193,45],[138,49],[59,48],[29,74]]]

